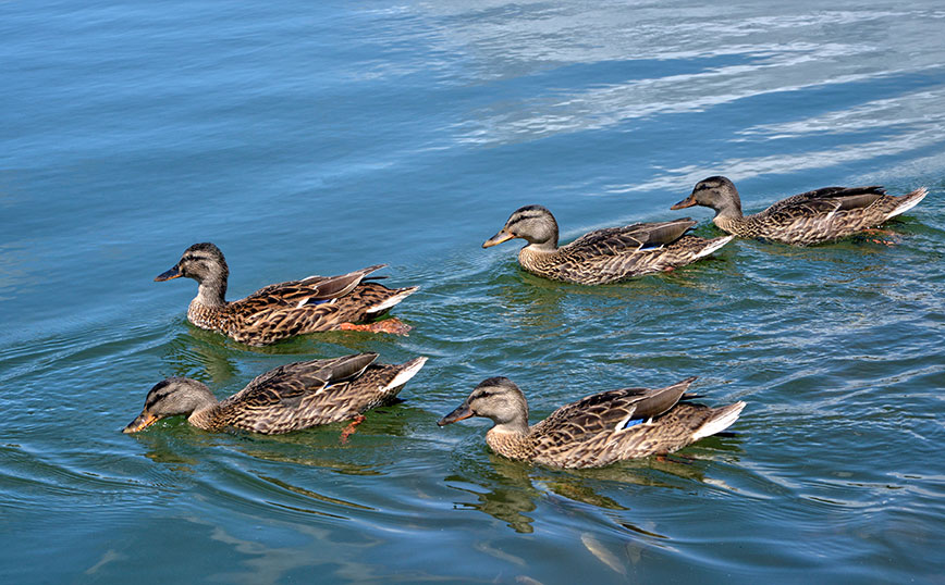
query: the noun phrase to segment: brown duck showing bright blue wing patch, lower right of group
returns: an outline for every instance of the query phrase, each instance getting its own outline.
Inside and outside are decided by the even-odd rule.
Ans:
[[[499,455],[556,468],[599,468],[666,455],[732,425],[745,402],[721,408],[688,402],[697,398],[686,394],[694,379],[594,394],[528,426],[528,403],[518,386],[507,377],[490,377],[437,424],[484,416],[494,423],[486,443]]]

